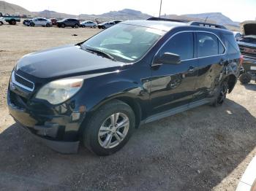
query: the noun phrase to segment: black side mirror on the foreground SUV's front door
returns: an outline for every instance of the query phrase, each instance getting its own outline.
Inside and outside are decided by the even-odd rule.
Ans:
[[[181,57],[179,55],[165,52],[164,54],[160,55],[159,57],[154,59],[154,64],[179,64],[181,63]]]

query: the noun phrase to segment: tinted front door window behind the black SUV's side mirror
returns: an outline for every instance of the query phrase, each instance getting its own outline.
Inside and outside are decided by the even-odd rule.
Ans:
[[[194,55],[194,38],[192,33],[181,33],[173,36],[170,41],[160,51],[171,52],[181,56],[181,60],[193,58]]]

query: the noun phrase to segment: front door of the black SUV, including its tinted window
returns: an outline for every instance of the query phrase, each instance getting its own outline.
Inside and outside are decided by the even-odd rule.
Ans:
[[[151,107],[152,113],[165,112],[178,106],[188,106],[195,95],[197,81],[197,59],[195,59],[195,34],[181,32],[175,34],[159,50],[180,55],[181,63],[152,66]]]

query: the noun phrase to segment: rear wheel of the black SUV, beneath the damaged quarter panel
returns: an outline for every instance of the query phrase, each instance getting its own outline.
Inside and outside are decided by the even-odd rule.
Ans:
[[[226,96],[228,92],[228,77],[222,81],[217,90],[217,96],[212,103],[212,106],[222,106],[225,102]]]

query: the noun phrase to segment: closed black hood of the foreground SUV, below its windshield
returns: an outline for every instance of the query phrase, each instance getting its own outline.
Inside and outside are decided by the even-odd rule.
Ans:
[[[68,45],[25,55],[18,61],[16,70],[34,77],[51,78],[122,65],[124,63],[87,52],[80,46]]]

